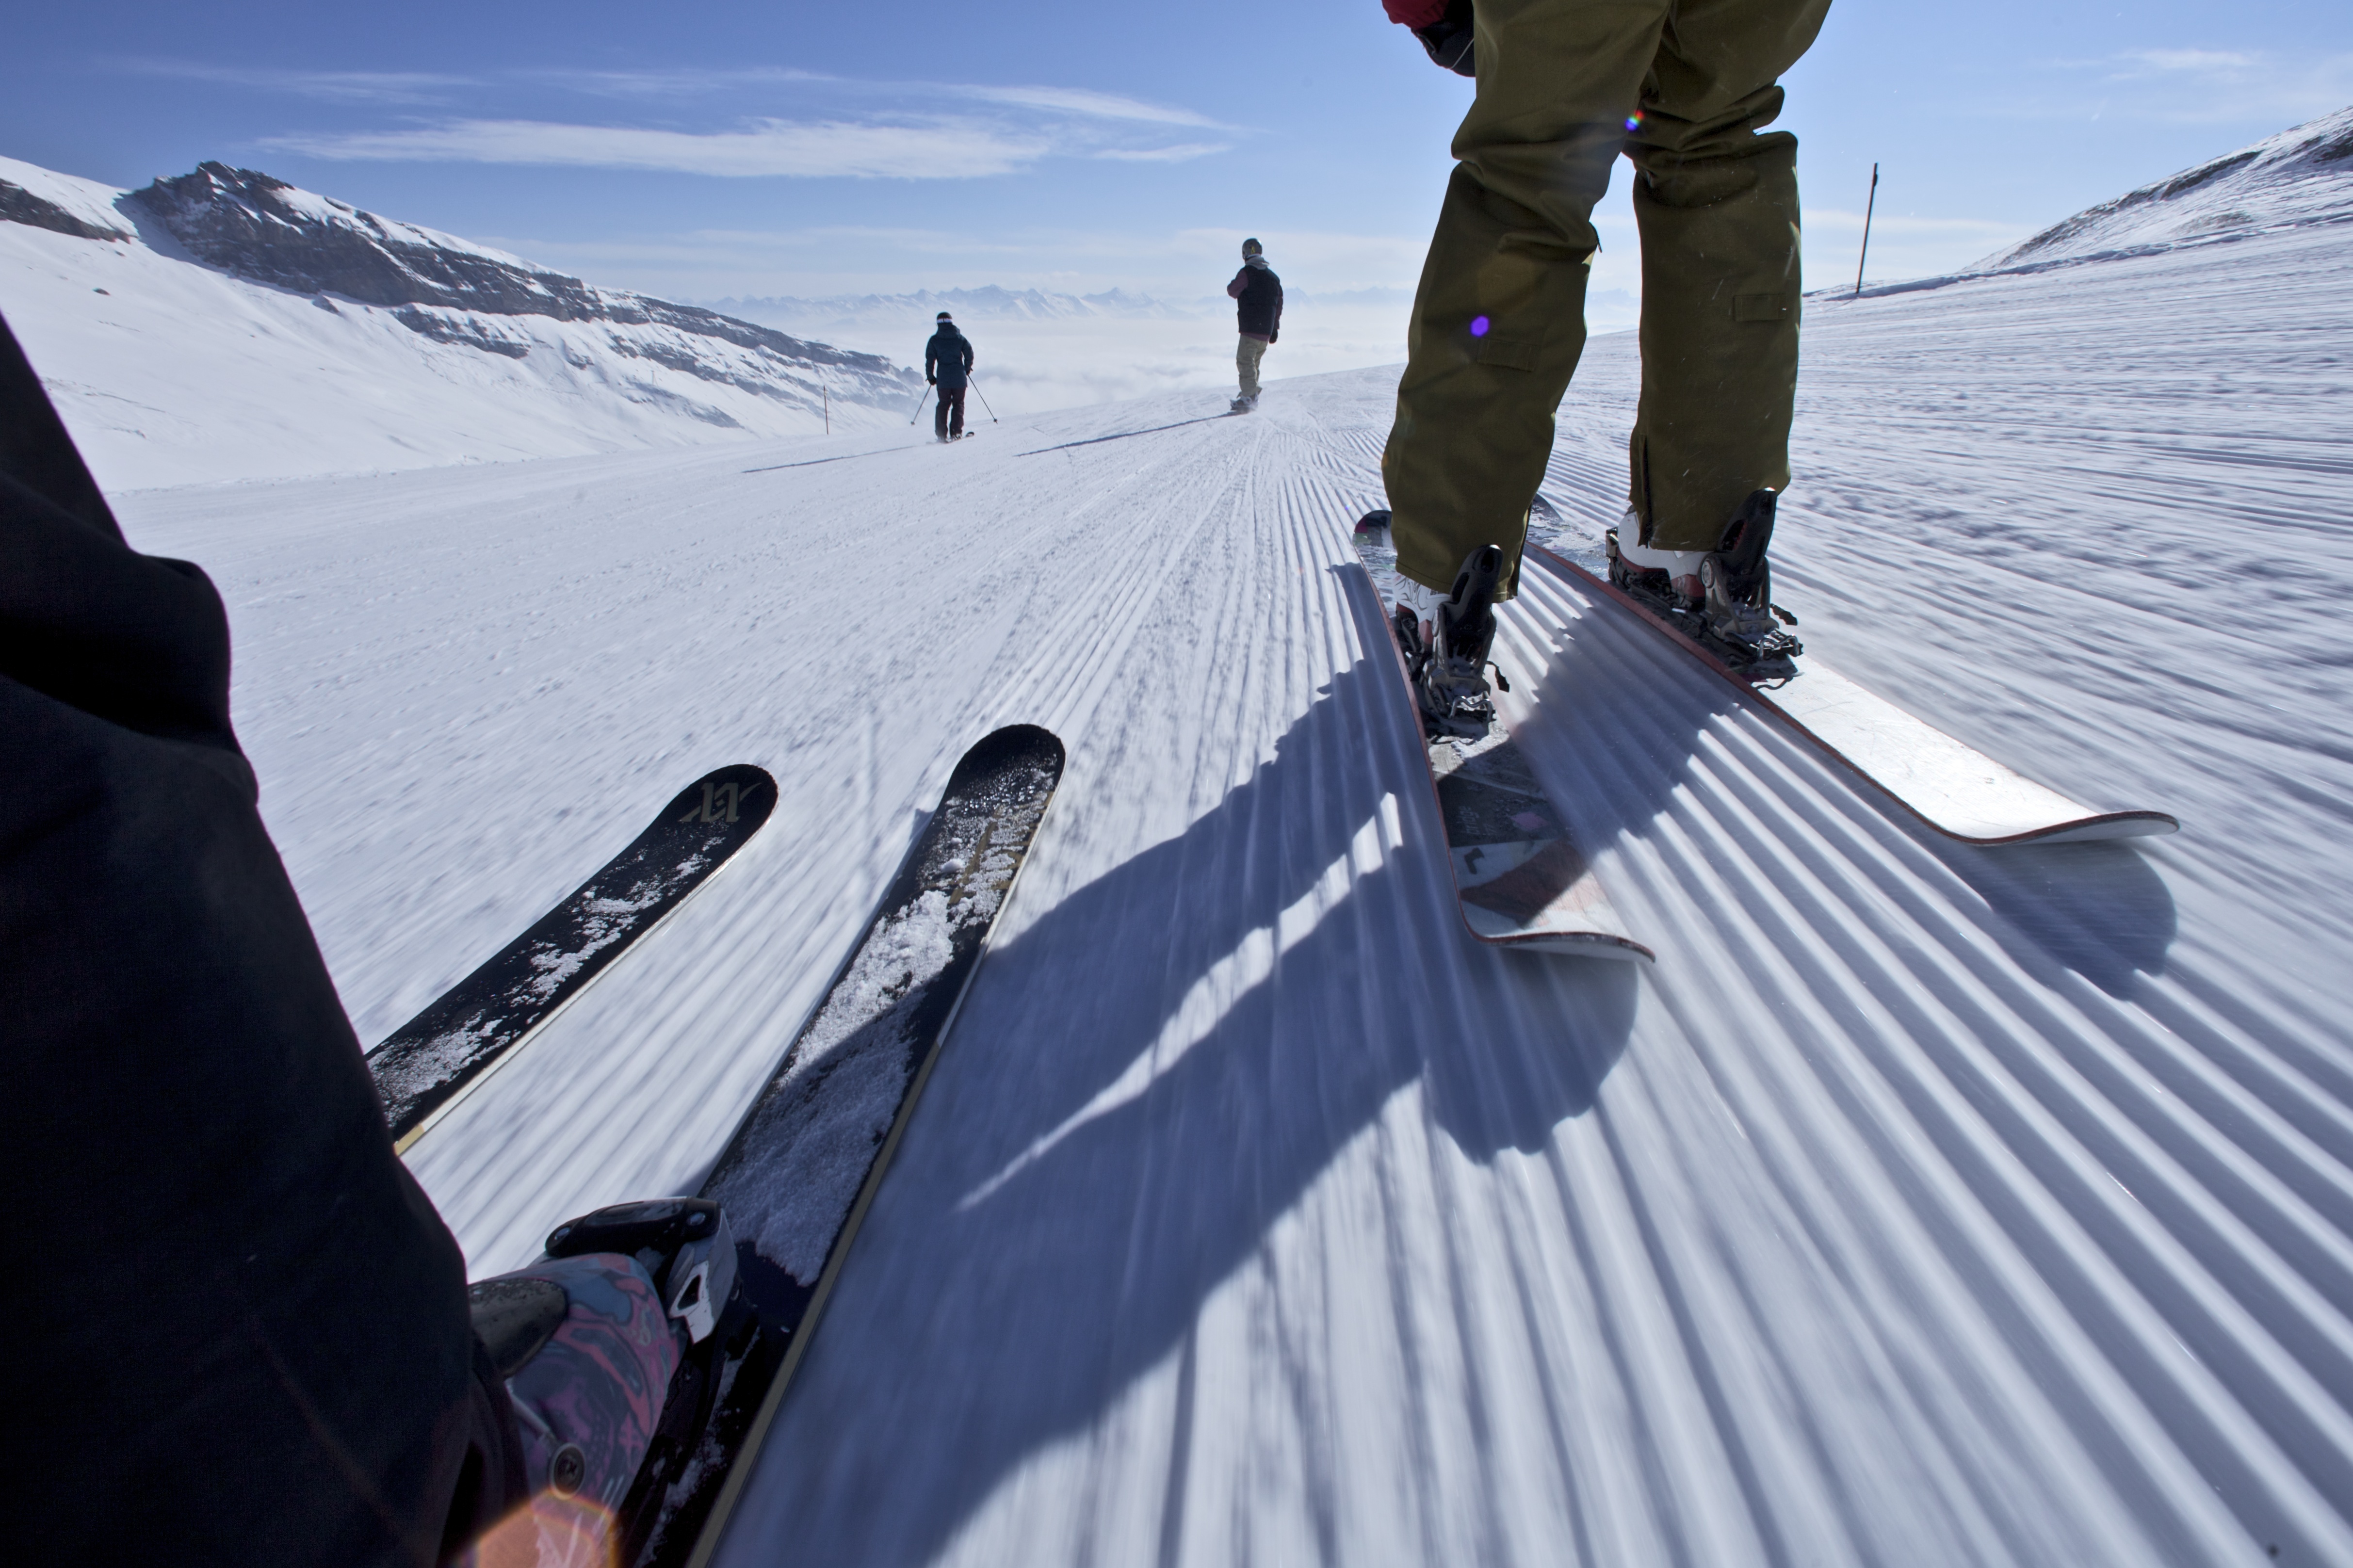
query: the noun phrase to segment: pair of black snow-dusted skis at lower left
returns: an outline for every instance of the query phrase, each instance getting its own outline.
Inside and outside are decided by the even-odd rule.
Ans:
[[[715,1549],[744,1490],[741,1460],[776,1417],[1061,763],[1061,742],[1033,725],[995,730],[958,760],[864,939],[701,1184],[696,1196],[715,1198],[736,1236],[736,1283],[720,1302],[711,1351],[680,1363],[664,1406],[668,1441],[647,1457],[614,1523],[631,1568],[704,1563]],[[760,768],[696,779],[572,897],[388,1036],[369,1069],[398,1149],[431,1132],[675,913],[774,805],[776,784]]]

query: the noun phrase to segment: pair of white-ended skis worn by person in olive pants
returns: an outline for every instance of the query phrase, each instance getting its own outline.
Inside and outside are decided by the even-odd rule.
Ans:
[[[1355,549],[1374,603],[1386,605],[1395,589],[1386,511],[1358,520]],[[2094,812],[2078,805],[1864,690],[1821,659],[1807,657],[1795,676],[1769,687],[1760,685],[1668,626],[1642,600],[1574,560],[1529,544],[1522,570],[1529,565],[1652,626],[1737,685],[1758,711],[1788,725],[1845,772],[1944,838],[1969,845],[2073,843],[2144,838],[2181,826],[2165,812]],[[1395,636],[1391,650],[1398,669],[1391,692],[1407,704],[1419,725],[1405,650]],[[1475,939],[1489,946],[1588,958],[1654,956],[1628,935],[1565,826],[1565,815],[1546,796],[1501,720],[1485,737],[1431,735],[1426,744],[1431,791],[1454,866],[1457,904]]]

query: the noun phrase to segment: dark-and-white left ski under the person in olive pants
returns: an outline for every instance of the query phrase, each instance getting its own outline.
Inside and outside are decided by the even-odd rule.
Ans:
[[[1391,603],[1395,553],[1388,549],[1388,513],[1367,513],[1353,539],[1374,603]],[[1388,614],[1377,614],[1398,666],[1391,690],[1419,732],[1421,711],[1405,650]],[[1501,720],[1480,739],[1428,737],[1426,760],[1454,897],[1473,937],[1506,949],[1652,961],[1654,954],[1626,935],[1565,815]]]

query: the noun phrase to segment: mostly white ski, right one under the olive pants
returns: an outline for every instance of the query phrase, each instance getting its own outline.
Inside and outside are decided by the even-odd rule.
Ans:
[[[1546,504],[1544,511],[1553,509]],[[2155,810],[2097,812],[2080,805],[1864,690],[1814,655],[1805,655],[1788,680],[1748,680],[1607,577],[1534,542],[1527,556],[1555,577],[1593,589],[1647,626],[1668,633],[1678,647],[1741,687],[1765,713],[1946,838],[1972,845],[2080,843],[2148,838],[2181,826]]]

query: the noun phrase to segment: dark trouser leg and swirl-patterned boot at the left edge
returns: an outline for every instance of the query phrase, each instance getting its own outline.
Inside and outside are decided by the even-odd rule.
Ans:
[[[254,808],[221,596],[125,544],[7,323],[0,556],[0,1182],[40,1253],[9,1394],[61,1455],[19,1556],[609,1540],[692,1342],[668,1262],[468,1293]]]

